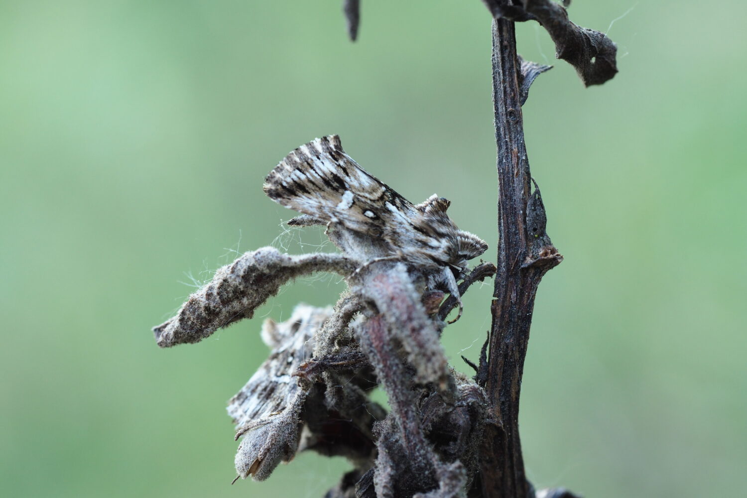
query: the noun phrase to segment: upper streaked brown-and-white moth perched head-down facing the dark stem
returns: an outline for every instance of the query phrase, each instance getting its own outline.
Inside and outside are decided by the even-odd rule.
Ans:
[[[456,281],[488,245],[450,220],[447,199],[433,194],[412,204],[353,161],[337,135],[288,154],[265,178],[264,192],[303,213],[289,224],[326,225],[332,242],[359,261],[398,260],[422,273],[428,287],[456,297],[461,314]]]

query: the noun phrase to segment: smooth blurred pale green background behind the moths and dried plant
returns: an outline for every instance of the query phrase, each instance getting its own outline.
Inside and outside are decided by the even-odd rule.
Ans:
[[[747,6],[570,13],[612,25],[620,73],[584,89],[557,61],[524,107],[565,255],[540,287],[524,376],[530,479],[586,497],[740,496]],[[535,24],[518,36],[522,55],[554,60]],[[364,1],[357,43],[339,1],[0,1],[1,494],[320,497],[341,459],[304,454],[230,486],[224,407],[267,354],[261,317],[334,302],[338,278],[297,281],[198,345],[158,349],[150,327],[236,251],[317,249],[261,184],[324,134],[412,201],[447,196],[495,258],[489,64],[477,0]],[[490,296],[471,290],[447,329],[460,369]]]

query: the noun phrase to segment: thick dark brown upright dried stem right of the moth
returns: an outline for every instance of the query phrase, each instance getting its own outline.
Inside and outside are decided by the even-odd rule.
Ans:
[[[539,281],[562,256],[545,233],[544,208],[541,199],[539,204],[535,200],[539,193],[531,192],[521,116],[523,77],[514,23],[508,19],[493,21],[492,66],[499,243],[486,379],[492,423],[483,439],[481,481],[484,498],[526,498],[533,489],[524,473],[518,435],[521,375]],[[538,219],[543,221],[539,227],[532,222]]]

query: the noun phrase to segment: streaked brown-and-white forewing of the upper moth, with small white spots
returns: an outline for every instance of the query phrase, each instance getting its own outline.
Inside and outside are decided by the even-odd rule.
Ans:
[[[415,213],[411,202],[345,154],[337,135],[288,154],[265,178],[264,193],[286,208],[373,236]]]

